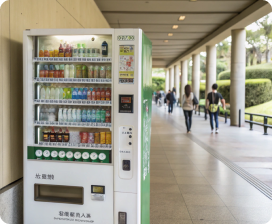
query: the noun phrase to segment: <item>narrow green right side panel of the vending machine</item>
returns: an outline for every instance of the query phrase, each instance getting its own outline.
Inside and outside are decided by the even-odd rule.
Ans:
[[[142,37],[141,223],[150,223],[150,138],[152,112],[152,43]]]

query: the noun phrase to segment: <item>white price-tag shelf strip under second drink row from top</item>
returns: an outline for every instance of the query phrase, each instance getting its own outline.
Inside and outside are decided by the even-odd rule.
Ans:
[[[102,78],[34,78],[36,83],[92,83],[111,84],[111,79]]]

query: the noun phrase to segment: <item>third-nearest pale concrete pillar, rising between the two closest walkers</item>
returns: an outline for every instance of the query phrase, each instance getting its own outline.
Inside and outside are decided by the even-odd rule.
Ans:
[[[192,56],[193,60],[193,71],[192,71],[192,91],[199,99],[199,90],[200,90],[200,55],[194,54]]]

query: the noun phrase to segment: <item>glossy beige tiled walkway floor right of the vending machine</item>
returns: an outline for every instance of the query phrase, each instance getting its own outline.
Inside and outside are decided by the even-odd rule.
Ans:
[[[220,134],[211,135],[208,121],[195,115],[188,136],[181,109],[175,108],[174,114],[168,115],[163,107],[153,106],[152,224],[267,224],[271,220],[272,201],[198,144],[201,141],[228,159],[243,158],[247,147],[250,155],[256,153],[252,147],[255,143],[249,138],[252,132],[222,124]],[[258,134],[259,144],[272,141]],[[264,150],[263,158],[268,155],[269,150]],[[254,161],[254,156],[248,157]],[[256,172],[257,168],[252,170]],[[269,180],[267,175],[265,180],[272,182],[272,177]]]

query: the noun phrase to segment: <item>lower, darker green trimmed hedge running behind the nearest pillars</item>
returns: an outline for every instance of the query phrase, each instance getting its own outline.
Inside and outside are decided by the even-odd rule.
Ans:
[[[219,80],[218,92],[222,94],[226,103],[230,102],[230,80]],[[246,80],[246,107],[259,105],[271,100],[271,81],[269,79]],[[205,89],[200,88],[200,99],[205,99]]]

